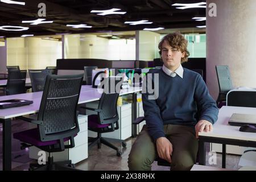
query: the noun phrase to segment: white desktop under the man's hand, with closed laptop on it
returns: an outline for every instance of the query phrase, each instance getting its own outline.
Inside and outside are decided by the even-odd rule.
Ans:
[[[208,133],[200,132],[199,136],[248,140],[256,142],[256,133],[241,132],[239,131],[240,126],[231,126],[228,124],[229,118],[233,113],[256,114],[256,108],[222,106],[218,113],[218,120],[213,125],[213,131]]]

